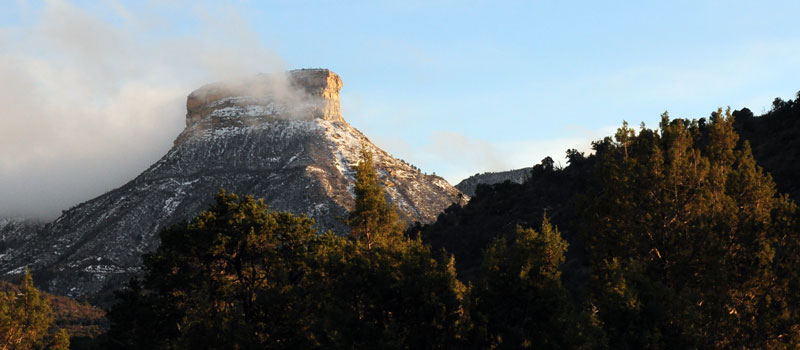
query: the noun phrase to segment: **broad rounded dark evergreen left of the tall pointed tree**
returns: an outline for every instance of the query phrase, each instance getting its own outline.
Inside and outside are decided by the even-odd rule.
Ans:
[[[115,347],[306,347],[296,287],[317,242],[312,220],[221,191],[160,237],[143,285],[132,281],[109,313]]]

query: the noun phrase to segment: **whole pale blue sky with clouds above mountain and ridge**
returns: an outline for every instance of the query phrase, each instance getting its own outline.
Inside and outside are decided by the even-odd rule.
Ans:
[[[0,198],[24,189],[30,208],[133,178],[180,131],[186,94],[230,74],[329,68],[346,120],[451,183],[563,162],[623,120],[758,114],[800,90],[797,1],[0,6],[0,70],[12,75],[0,92],[15,96],[0,102]]]

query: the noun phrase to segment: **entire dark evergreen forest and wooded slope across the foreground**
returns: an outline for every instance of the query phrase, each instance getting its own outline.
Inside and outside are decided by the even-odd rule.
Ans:
[[[408,230],[364,151],[346,237],[221,191],[72,348],[797,349],[799,132],[800,94],[624,123]],[[65,344],[42,327],[27,348]]]

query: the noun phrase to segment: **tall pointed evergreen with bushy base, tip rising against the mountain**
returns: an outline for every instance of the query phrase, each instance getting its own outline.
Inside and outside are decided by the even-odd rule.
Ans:
[[[362,148],[356,167],[355,209],[349,240],[328,235],[312,259],[310,285],[324,319],[326,348],[439,348],[463,345],[464,285],[452,257],[431,256],[421,240],[402,235],[403,223],[386,201]]]

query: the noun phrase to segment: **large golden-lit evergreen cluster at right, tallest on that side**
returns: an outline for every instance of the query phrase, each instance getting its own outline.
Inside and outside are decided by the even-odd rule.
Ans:
[[[730,111],[710,124],[662,116],[598,147],[582,212],[593,302],[615,349],[762,348],[791,340],[776,250],[791,222]],[[786,234],[786,233],[784,233]],[[785,243],[784,243],[785,244]],[[791,322],[790,322],[791,323]]]

